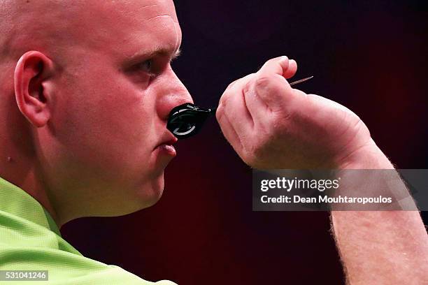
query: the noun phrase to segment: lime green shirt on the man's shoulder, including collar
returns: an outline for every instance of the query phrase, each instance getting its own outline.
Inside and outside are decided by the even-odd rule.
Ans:
[[[36,199],[1,177],[0,270],[48,270],[48,281],[0,281],[10,285],[174,284],[148,282],[83,256],[61,237],[55,221]]]

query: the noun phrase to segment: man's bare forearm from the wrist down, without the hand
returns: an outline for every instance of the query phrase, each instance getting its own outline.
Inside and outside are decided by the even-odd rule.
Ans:
[[[374,146],[352,154],[343,168],[393,166]],[[331,224],[349,284],[428,283],[428,236],[419,212],[334,211]]]

